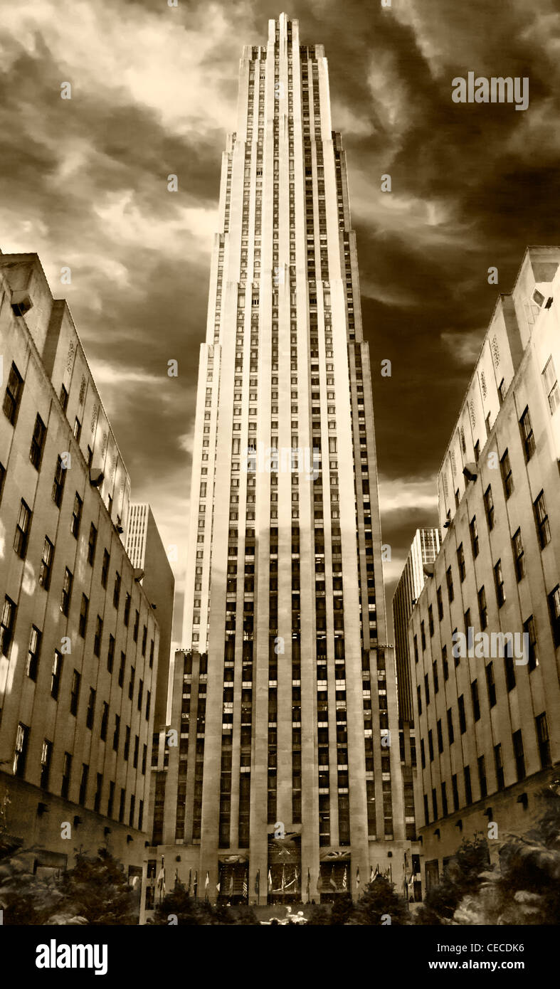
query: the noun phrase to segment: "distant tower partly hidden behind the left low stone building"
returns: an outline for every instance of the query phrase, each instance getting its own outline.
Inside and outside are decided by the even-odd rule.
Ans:
[[[125,545],[137,570],[137,580],[155,611],[159,626],[157,683],[153,701],[153,728],[159,731],[165,727],[167,720],[175,578],[149,504],[131,504]]]

